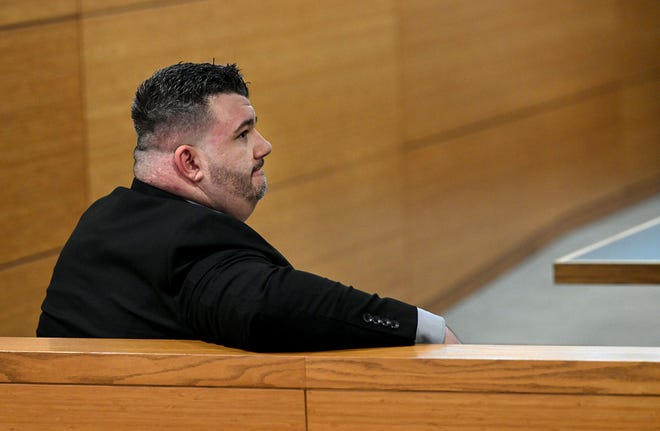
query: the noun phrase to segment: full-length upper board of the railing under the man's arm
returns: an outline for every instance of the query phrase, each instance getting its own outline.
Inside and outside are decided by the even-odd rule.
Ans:
[[[660,395],[660,348],[417,345],[263,354],[185,340],[0,338],[0,382]]]

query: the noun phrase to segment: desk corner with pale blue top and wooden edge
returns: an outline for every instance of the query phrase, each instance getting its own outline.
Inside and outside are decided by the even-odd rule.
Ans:
[[[660,217],[564,256],[556,283],[660,284]]]

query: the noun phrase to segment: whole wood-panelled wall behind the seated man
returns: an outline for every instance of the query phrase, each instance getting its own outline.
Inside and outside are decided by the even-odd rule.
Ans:
[[[291,262],[442,312],[660,191],[658,22],[656,0],[1,1],[0,335],[34,335],[81,212],[131,181],[157,68],[242,67],[274,148],[248,222]]]

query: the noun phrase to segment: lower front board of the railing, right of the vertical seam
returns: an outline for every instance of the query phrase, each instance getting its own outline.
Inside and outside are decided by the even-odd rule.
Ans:
[[[658,405],[657,396],[311,390],[307,429],[657,430]]]

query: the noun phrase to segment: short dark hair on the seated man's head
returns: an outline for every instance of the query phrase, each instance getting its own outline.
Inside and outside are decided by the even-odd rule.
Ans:
[[[158,135],[204,127],[210,120],[209,97],[223,93],[249,97],[235,64],[178,63],[156,71],[140,84],[131,106],[135,150],[149,149]]]

